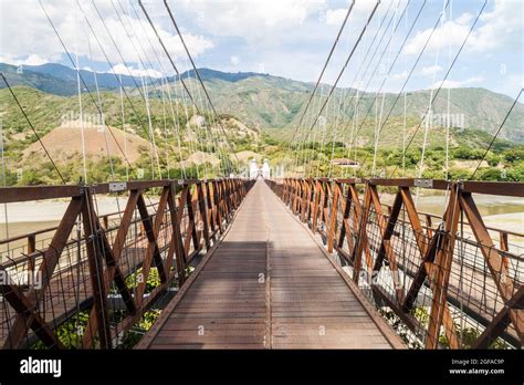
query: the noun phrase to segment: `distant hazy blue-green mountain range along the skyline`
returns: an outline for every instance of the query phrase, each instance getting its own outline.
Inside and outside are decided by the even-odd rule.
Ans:
[[[25,85],[63,96],[74,95],[77,92],[76,71],[61,64],[24,65],[22,71],[19,71],[17,66],[0,63],[0,71],[4,73],[11,85]],[[254,72],[227,73],[200,69],[199,74],[218,112],[233,115],[254,128],[273,133],[279,131],[287,133],[287,136],[301,118],[314,87],[313,83]],[[118,91],[118,80],[113,73],[96,73],[95,77],[93,72],[81,70],[81,75],[90,90],[94,90],[97,83],[102,90]],[[197,90],[198,84],[196,84],[193,71],[182,73],[181,77],[190,90]],[[130,94],[138,93],[136,84],[140,85],[142,79],[119,75],[119,80]],[[178,81],[177,77],[169,79],[171,83]],[[4,86],[0,84],[0,89]],[[329,87],[327,84],[321,85],[317,96],[312,101],[312,106],[318,108],[318,105],[325,101]],[[82,89],[86,92],[84,85]],[[151,95],[155,93],[151,92]],[[332,96],[334,103],[328,105],[327,113],[333,112],[333,108],[339,108],[340,116],[350,121],[355,115],[355,95],[356,90],[336,89]],[[398,97],[397,94],[385,93],[377,97],[375,93],[358,92],[358,96],[357,116],[359,118],[367,116],[369,122],[375,122],[377,107],[378,111],[382,111],[384,118],[390,116],[395,119],[404,116],[404,95]],[[420,121],[428,108],[430,97],[431,90],[408,92],[406,95],[407,115],[411,119]],[[450,92],[449,111],[452,115],[452,124],[459,122],[459,126],[463,125],[465,128],[493,134],[499,129],[512,103],[511,97],[485,89],[453,89]],[[447,111],[448,92],[442,90],[432,105],[433,118],[437,116],[439,121],[441,114]],[[500,137],[514,143],[524,143],[524,105],[522,103],[515,105]]]

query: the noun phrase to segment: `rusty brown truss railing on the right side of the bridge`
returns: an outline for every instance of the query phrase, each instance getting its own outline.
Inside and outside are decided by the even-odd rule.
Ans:
[[[475,197],[524,197],[524,184],[327,178],[268,184],[322,236],[411,346],[522,346],[524,235],[488,227]],[[418,189],[443,195],[441,216],[418,210]],[[386,198],[392,202],[385,205]]]

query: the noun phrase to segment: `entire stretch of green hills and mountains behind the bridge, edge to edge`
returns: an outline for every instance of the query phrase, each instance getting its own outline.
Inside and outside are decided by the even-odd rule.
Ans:
[[[77,95],[60,96],[57,91],[49,92],[35,89],[49,89],[51,86],[62,86],[60,80],[48,74],[12,74],[20,75],[21,83],[30,86],[14,86],[18,98],[24,106],[28,116],[33,123],[38,134],[44,139],[56,128],[63,131],[65,121],[77,121],[78,98]],[[187,74],[186,74],[187,75]],[[187,77],[187,76],[186,76]],[[308,169],[326,171],[329,168],[329,159],[334,157],[355,158],[361,163],[357,170],[360,176],[371,174],[374,158],[374,144],[377,121],[373,101],[375,95],[364,94],[358,103],[358,119],[354,121],[355,98],[340,106],[338,119],[334,119],[336,114],[325,114],[326,124],[315,126],[308,137],[298,137],[300,145],[290,157],[289,142],[294,137],[297,119],[302,108],[310,97],[313,85],[310,83],[296,82],[283,77],[268,74],[238,73],[227,74],[216,71],[202,71],[206,86],[211,94],[213,103],[221,113],[221,122],[228,132],[234,150],[242,154],[240,167],[245,167],[251,156],[268,157],[272,165],[283,165],[290,169],[293,158],[298,156],[307,159]],[[11,81],[15,80],[12,77]],[[65,81],[64,81],[65,82]],[[174,80],[177,82],[177,80]],[[196,92],[198,84],[195,79],[186,80],[198,105],[205,105],[202,93]],[[13,82],[15,84],[15,82]],[[180,95],[180,84],[177,85]],[[327,91],[324,86],[323,95]],[[150,170],[150,148],[147,111],[136,89],[127,87],[132,102],[125,101],[125,132],[129,135],[142,138],[146,145],[135,148],[139,152],[139,157],[134,160],[133,167],[145,169],[144,178],[151,177]],[[352,90],[336,90],[334,101],[338,101],[340,95],[346,95]],[[163,176],[177,177],[181,175],[181,163],[186,164],[188,173],[186,175],[203,176],[209,174],[212,164],[221,165],[227,157],[234,158],[230,149],[217,152],[217,146],[227,148],[226,138],[218,125],[212,122],[209,112],[203,112],[206,126],[210,127],[217,141],[210,145],[209,133],[202,127],[195,126],[196,112],[192,108],[185,110],[180,100],[174,105],[175,119],[167,107],[167,115],[161,100],[161,92],[150,87],[150,110],[151,125],[155,132],[155,141],[160,154],[160,168]],[[97,97],[96,94],[93,94]],[[174,95],[175,97],[176,95]],[[325,96],[322,96],[325,97]],[[407,119],[406,128],[404,123],[404,100],[399,100],[388,117],[389,110],[395,101],[395,95],[386,94],[384,98],[382,131],[378,138],[378,152],[376,159],[376,175],[391,175],[398,170],[402,164],[401,148],[406,143],[410,143],[406,154],[406,176],[418,176],[421,149],[425,138],[425,124],[421,114],[426,111],[430,97],[429,91],[412,92],[407,95]],[[87,93],[83,93],[84,119],[95,119],[99,117],[98,111]],[[106,124],[112,129],[122,129],[120,96],[117,90],[106,90],[101,93],[103,112]],[[313,106],[318,107],[321,96],[315,97]],[[379,106],[382,106],[380,98]],[[457,122],[452,122],[450,129],[450,167],[451,177],[469,178],[483,156],[485,148],[492,141],[493,133],[499,128],[505,113],[511,106],[511,98],[483,89],[455,89],[451,91],[450,112],[453,116],[463,119],[464,127],[458,127]],[[433,117],[442,114],[448,108],[447,92],[443,91],[433,106]],[[327,112],[333,112],[336,104],[329,104]],[[14,104],[8,90],[0,90],[0,116],[2,118],[4,157],[8,159],[7,177],[8,184],[34,185],[57,183],[56,175],[51,167],[49,159],[40,146],[36,136],[30,129],[27,121]],[[387,118],[387,119],[386,119]],[[311,116],[306,116],[304,122],[311,122]],[[524,180],[524,145],[523,141],[523,105],[517,104],[506,121],[500,138],[494,143],[492,150],[481,165],[476,177],[491,180]],[[446,128],[442,122],[434,119],[427,133],[427,152],[422,176],[432,178],[444,177],[446,159]],[[460,124],[458,124],[460,125]],[[180,137],[177,137],[178,127]],[[302,133],[307,129],[303,125]],[[60,131],[60,133],[62,133]],[[122,133],[120,133],[122,134]],[[54,134],[53,141],[57,135]],[[77,145],[76,136],[71,138]],[[80,132],[78,132],[80,141]],[[139,141],[138,141],[139,142]],[[137,143],[138,143],[137,142]],[[82,155],[80,152],[62,150],[62,143],[52,142],[49,144],[54,150],[61,170],[69,183],[78,180],[82,173]],[[29,154],[29,153],[30,154]],[[356,152],[356,153],[355,153]],[[227,153],[227,154],[226,154]],[[29,154],[29,155],[28,155]],[[113,178],[109,174],[107,159],[99,156],[88,156],[90,177],[95,181],[103,181]],[[116,176],[124,178],[126,175],[125,163],[118,154],[114,157]],[[200,160],[198,160],[200,159]],[[233,159],[234,160],[234,159]],[[181,162],[181,163],[180,163]],[[34,165],[39,165],[34,167]],[[217,166],[214,166],[217,167]],[[23,178],[17,174],[23,170]],[[347,170],[333,169],[333,175],[345,175]],[[353,173],[353,171],[352,171]],[[314,173],[313,173],[314,174]],[[396,176],[399,176],[396,174]]]

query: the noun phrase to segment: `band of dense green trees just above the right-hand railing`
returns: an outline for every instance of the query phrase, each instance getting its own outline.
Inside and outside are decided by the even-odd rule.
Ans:
[[[418,177],[420,173],[420,162],[422,154],[423,133],[417,134],[412,145],[406,154],[401,147],[395,146],[385,138],[385,146],[379,146],[376,154],[375,176],[377,177],[400,177],[402,176],[402,163],[406,166],[404,176]],[[443,129],[436,128],[428,135],[433,141],[428,141],[425,154],[423,171],[425,178],[446,178],[446,149],[439,144],[438,138],[444,135]],[[441,142],[441,141],[440,141]],[[449,149],[449,177],[451,179],[469,179],[480,160],[484,156],[485,149],[491,142],[491,136],[478,129],[465,129],[461,135],[452,135]],[[380,141],[380,143],[382,143]],[[305,168],[298,167],[301,175],[326,175],[332,176],[358,176],[368,177],[373,174],[374,147],[365,145],[363,147],[350,148],[342,142],[324,144],[305,143],[298,144],[294,148],[293,155],[286,153],[287,144],[283,139],[271,139],[268,145],[265,156],[273,165],[283,165],[285,169],[293,169],[296,157],[302,165],[306,160]],[[492,149],[486,154],[485,159],[480,164],[475,179],[518,181],[524,180],[523,145],[514,145],[507,141],[496,141]],[[357,169],[342,168],[329,164],[333,158],[356,159],[359,163]],[[318,173],[317,173],[318,170]]]

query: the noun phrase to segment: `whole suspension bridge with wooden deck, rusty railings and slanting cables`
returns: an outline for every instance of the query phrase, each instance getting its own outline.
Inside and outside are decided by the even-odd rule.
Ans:
[[[193,77],[186,80],[179,71],[181,60],[171,53],[145,4],[139,1],[125,9],[120,1],[112,0],[114,14],[142,67],[158,67],[163,73],[159,79],[146,73],[142,84],[133,77],[130,87],[115,74],[122,131],[126,133],[126,119],[133,121],[148,138],[150,178],[144,178],[144,170],[128,160],[126,142],[120,146],[115,128],[105,122],[107,107],[96,75],[96,87],[91,90],[78,69],[77,53],[70,51],[52,13],[40,2],[76,70],[81,123],[86,102],[102,119],[111,174],[107,180],[116,181],[91,180],[85,152],[81,183],[67,180],[32,124],[17,87],[11,87],[2,74],[24,124],[63,184],[2,187],[0,204],[6,212],[13,204],[60,200],[65,205],[57,226],[0,239],[3,348],[522,347],[524,233],[488,226],[476,201],[482,196],[524,198],[524,184],[474,180],[522,90],[469,178],[453,180],[450,176],[449,123],[443,177],[426,178],[430,123],[422,118],[408,133],[406,116],[400,162],[385,175],[377,163],[380,134],[390,128],[388,122],[397,102],[406,101],[406,85],[434,30],[451,18],[450,1],[442,2],[442,11],[434,17],[433,30],[412,66],[405,64],[406,81],[390,106],[385,106],[382,87],[426,1],[374,2],[338,76],[324,93],[325,70],[353,22],[356,3],[350,3],[305,101],[284,159],[286,175],[249,178],[240,170],[231,134],[168,2],[164,2],[166,17],[180,39],[186,63],[193,70]],[[88,9],[78,1],[75,4],[87,43],[94,43],[90,50],[97,49],[111,67],[115,59],[128,66],[96,3],[93,1]],[[454,55],[450,50],[448,71],[440,86],[431,91],[425,115],[432,110],[485,4],[472,19]],[[377,25],[374,32],[369,31],[371,22]],[[103,33],[111,37],[109,46],[104,46]],[[170,65],[170,71],[165,65]],[[354,81],[366,84],[363,92],[368,91],[371,80],[378,79],[381,85],[373,92],[365,116],[348,123],[340,108],[354,108],[358,115],[360,91],[346,89],[336,94],[335,90],[352,65]],[[176,82],[169,80],[170,72],[176,74]],[[150,107],[155,93],[161,112]],[[449,93],[448,89],[448,108]],[[358,135],[374,107],[369,175],[358,175],[356,167],[338,167],[334,162],[337,135],[340,129],[349,132],[347,156],[357,159]],[[192,116],[202,117],[202,122],[180,124],[181,117],[189,122]],[[405,177],[406,154],[420,129],[425,139],[418,175]],[[331,143],[326,139],[329,135]],[[182,142],[189,153],[213,154],[220,162],[187,169]],[[327,167],[308,142],[327,153],[329,144],[333,146]],[[115,156],[123,159],[123,180],[115,171]],[[358,167],[364,169],[367,160],[367,156],[359,158]],[[172,165],[179,166],[179,175],[170,174]],[[441,215],[419,209],[421,191],[442,197]],[[103,199],[114,199],[115,211],[104,212]]]

